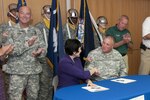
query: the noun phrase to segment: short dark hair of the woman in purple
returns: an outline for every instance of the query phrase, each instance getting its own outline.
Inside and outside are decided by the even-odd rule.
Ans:
[[[73,52],[78,52],[81,47],[81,43],[77,39],[68,39],[65,42],[65,52],[68,55],[72,55]]]

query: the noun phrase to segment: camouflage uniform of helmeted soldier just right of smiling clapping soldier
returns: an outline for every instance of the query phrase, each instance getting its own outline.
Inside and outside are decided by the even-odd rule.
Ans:
[[[46,31],[46,35],[49,35],[49,29],[45,26],[43,22],[39,22],[35,25],[35,27],[39,28],[44,34],[43,29]],[[52,86],[52,78],[53,71],[50,69],[46,57],[40,60],[42,65],[42,73],[40,73],[40,90],[38,95],[38,100],[52,100],[53,95],[53,86]]]

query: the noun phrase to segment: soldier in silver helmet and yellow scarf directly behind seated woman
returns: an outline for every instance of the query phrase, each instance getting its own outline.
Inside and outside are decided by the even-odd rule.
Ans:
[[[75,39],[78,28],[78,12],[76,9],[69,9],[67,23],[63,26],[64,42],[67,39]]]

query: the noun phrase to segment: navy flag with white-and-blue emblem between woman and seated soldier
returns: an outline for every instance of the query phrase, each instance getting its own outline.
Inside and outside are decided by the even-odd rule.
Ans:
[[[80,18],[77,31],[78,40],[83,43],[80,58],[84,66],[88,53],[95,48],[94,32],[86,0],[81,0]],[[83,34],[83,35],[82,35]]]

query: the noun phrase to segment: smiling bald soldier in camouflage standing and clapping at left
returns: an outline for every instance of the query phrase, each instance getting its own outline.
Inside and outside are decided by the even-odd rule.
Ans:
[[[45,57],[46,46],[40,30],[30,26],[31,10],[22,6],[18,12],[19,23],[7,29],[7,43],[14,45],[3,70],[10,75],[9,100],[21,100],[26,89],[27,100],[37,100],[39,73],[42,67],[39,59]]]

